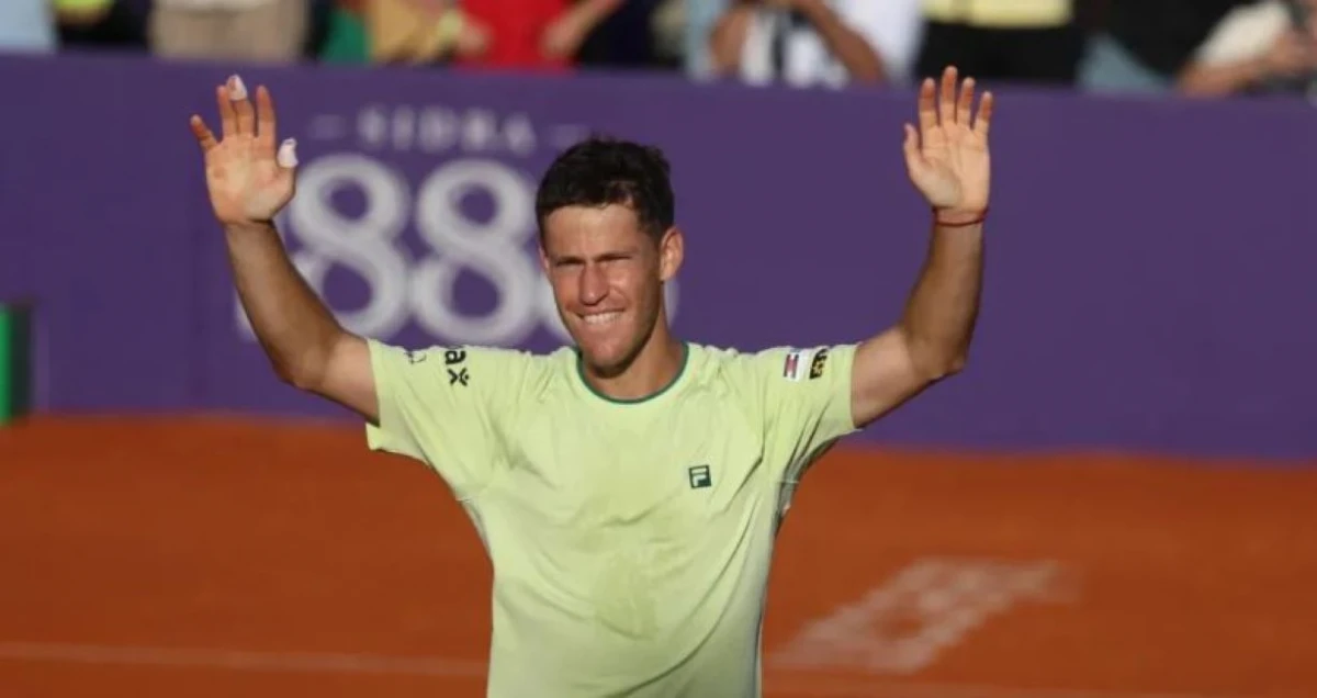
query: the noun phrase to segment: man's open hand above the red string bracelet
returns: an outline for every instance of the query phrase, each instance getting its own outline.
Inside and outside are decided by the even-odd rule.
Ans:
[[[910,180],[940,213],[979,216],[988,208],[988,126],[993,96],[985,92],[973,113],[975,80],[956,94],[956,68],[919,86],[919,128],[905,126],[905,159]]]

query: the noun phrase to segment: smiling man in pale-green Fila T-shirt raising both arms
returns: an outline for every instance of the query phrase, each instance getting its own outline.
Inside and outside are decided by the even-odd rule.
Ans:
[[[740,353],[678,340],[664,283],[684,255],[668,163],[591,140],[536,198],[541,259],[573,348],[408,352],[344,331],[271,220],[294,144],[216,88],[207,183],[237,290],[275,371],[367,421],[373,449],[432,466],[494,565],[489,695],[760,695],[773,540],[805,469],[839,437],[961,367],[979,307],[992,95],[955,70],[919,92],[905,159],[932,208],[900,323],[859,342]],[[857,312],[864,312],[863,306]]]

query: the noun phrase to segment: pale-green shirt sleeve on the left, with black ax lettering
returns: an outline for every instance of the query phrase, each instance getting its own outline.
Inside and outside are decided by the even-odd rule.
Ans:
[[[371,450],[428,464],[458,499],[474,497],[503,454],[531,356],[508,349],[431,346],[408,350],[369,340],[379,424]]]

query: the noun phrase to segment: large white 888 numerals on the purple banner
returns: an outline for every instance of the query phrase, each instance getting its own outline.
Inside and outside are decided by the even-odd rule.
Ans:
[[[332,201],[337,191],[352,187],[365,200],[356,217],[340,213]],[[462,212],[461,200],[473,191],[493,200],[487,221]],[[403,245],[408,225],[425,246],[420,258]],[[570,341],[532,245],[535,183],[512,166],[453,159],[412,192],[407,178],[377,158],[319,157],[299,167],[298,196],[281,215],[279,227],[299,244],[292,262],[317,295],[324,298],[333,267],[366,284],[365,306],[331,308],[350,332],[387,341],[415,323],[436,344],[515,346],[543,327]],[[498,304],[490,312],[460,309],[453,291],[461,271],[494,287]],[[676,317],[676,282],[668,284],[666,302],[669,317]],[[237,321],[240,332],[254,340],[241,304]]]

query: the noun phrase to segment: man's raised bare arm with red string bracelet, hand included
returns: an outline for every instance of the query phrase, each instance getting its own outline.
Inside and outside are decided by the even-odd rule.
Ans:
[[[864,427],[959,371],[969,354],[982,283],[988,212],[988,126],[993,97],[973,113],[975,84],[942,76],[919,88],[919,126],[906,124],[911,182],[932,207],[928,254],[900,323],[860,344],[851,370],[851,416]]]

